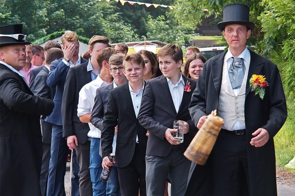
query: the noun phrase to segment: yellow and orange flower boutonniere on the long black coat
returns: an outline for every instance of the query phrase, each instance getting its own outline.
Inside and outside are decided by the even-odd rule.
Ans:
[[[269,84],[266,82],[264,75],[253,74],[250,78],[251,92],[254,91],[255,95],[259,95],[261,99],[265,96],[267,86],[269,86]]]

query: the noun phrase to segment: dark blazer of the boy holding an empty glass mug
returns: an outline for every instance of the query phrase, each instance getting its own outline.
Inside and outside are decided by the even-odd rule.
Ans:
[[[187,80],[190,82],[191,92],[183,92],[178,113],[173,103],[167,78],[162,75],[147,82],[138,115],[139,122],[150,133],[147,155],[165,157],[169,154],[173,145],[166,140],[164,134],[167,128],[173,128],[175,120],[185,121],[189,125],[189,132],[184,135],[184,141],[179,145],[182,151],[185,151],[197,132],[196,125],[192,122],[188,112],[188,105],[196,88],[196,81],[183,75],[182,77],[185,82]]]

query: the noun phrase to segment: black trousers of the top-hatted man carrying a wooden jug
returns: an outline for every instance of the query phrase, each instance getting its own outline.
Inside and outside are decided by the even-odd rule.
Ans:
[[[208,164],[213,196],[249,196],[246,135],[221,130]]]

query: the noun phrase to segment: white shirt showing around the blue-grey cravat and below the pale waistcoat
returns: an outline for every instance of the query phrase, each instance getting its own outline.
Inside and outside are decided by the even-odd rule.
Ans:
[[[227,70],[230,69],[230,66],[234,60],[232,57],[234,57],[234,55],[232,54],[231,50],[228,49],[227,53],[224,56],[224,62],[223,62],[224,69],[225,68]],[[244,65],[245,65],[245,74],[244,74],[242,85],[246,85],[245,82],[248,82],[247,78],[248,78],[248,72],[249,72],[250,60],[251,60],[250,51],[247,48],[244,49],[244,51],[240,55],[238,55],[237,58],[243,58]],[[228,75],[228,77],[229,77],[229,75]],[[229,85],[231,85],[231,84],[229,84]],[[239,95],[240,89],[241,88],[233,89],[236,96]],[[245,92],[241,92],[241,93],[244,94]],[[245,128],[246,127],[244,124],[242,124],[240,121],[236,121],[236,123],[233,125],[231,130],[240,130],[240,129],[245,129]]]

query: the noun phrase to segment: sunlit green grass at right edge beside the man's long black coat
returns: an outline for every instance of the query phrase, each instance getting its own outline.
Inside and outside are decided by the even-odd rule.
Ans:
[[[276,165],[278,167],[284,167],[295,156],[295,102],[287,101],[287,108],[287,121],[274,137]]]

